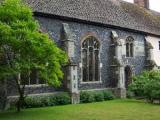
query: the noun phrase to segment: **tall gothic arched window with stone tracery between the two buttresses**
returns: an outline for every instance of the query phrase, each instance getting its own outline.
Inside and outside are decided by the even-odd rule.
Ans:
[[[82,43],[82,80],[99,81],[99,47],[98,40],[90,36]]]

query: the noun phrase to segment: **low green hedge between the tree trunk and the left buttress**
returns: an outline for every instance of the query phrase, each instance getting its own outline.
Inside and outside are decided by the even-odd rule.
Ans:
[[[28,96],[25,99],[25,108],[37,108],[54,105],[70,104],[71,99],[68,93],[59,93],[55,95]]]

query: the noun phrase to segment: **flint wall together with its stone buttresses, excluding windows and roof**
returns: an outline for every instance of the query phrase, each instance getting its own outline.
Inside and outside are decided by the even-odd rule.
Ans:
[[[68,90],[72,96],[72,103],[79,102],[79,91],[94,89],[113,89],[115,93],[124,97],[124,68],[130,66],[133,74],[139,74],[145,66],[145,39],[144,35],[123,31],[119,29],[111,29],[108,27],[94,26],[77,22],[62,21],[48,17],[35,17],[43,30],[57,43],[57,45],[67,51],[69,56],[69,65],[64,68],[65,79],[61,88],[55,89],[51,86],[28,86],[26,93],[38,94],[56,91]],[[115,31],[118,42],[115,47],[113,44],[112,32]],[[100,42],[100,81],[82,82],[81,73],[81,43],[88,36],[95,36]],[[127,58],[125,56],[125,39],[132,36],[135,40],[134,57]],[[117,50],[117,53],[115,51]],[[121,54],[119,54],[119,50]],[[117,56],[117,57],[116,57]],[[115,58],[118,58],[117,61]],[[76,71],[73,70],[76,67]],[[74,80],[73,78],[76,78]],[[14,82],[8,84],[8,96],[17,95]],[[76,88],[76,89],[75,89]]]

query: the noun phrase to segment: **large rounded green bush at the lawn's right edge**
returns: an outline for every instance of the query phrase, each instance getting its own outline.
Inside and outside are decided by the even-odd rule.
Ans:
[[[136,96],[144,97],[151,102],[160,99],[160,71],[144,71],[133,80],[129,90]]]

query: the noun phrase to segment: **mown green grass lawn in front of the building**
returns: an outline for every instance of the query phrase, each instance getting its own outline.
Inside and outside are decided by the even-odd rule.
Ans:
[[[160,120],[160,106],[137,100],[25,109],[0,113],[0,120]]]

